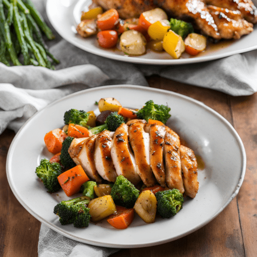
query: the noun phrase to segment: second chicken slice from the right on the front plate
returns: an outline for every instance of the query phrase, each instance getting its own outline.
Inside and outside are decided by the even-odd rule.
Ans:
[[[179,136],[166,126],[164,137],[164,157],[166,162],[166,183],[170,189],[176,188],[185,192],[182,180],[181,162],[179,153]]]

